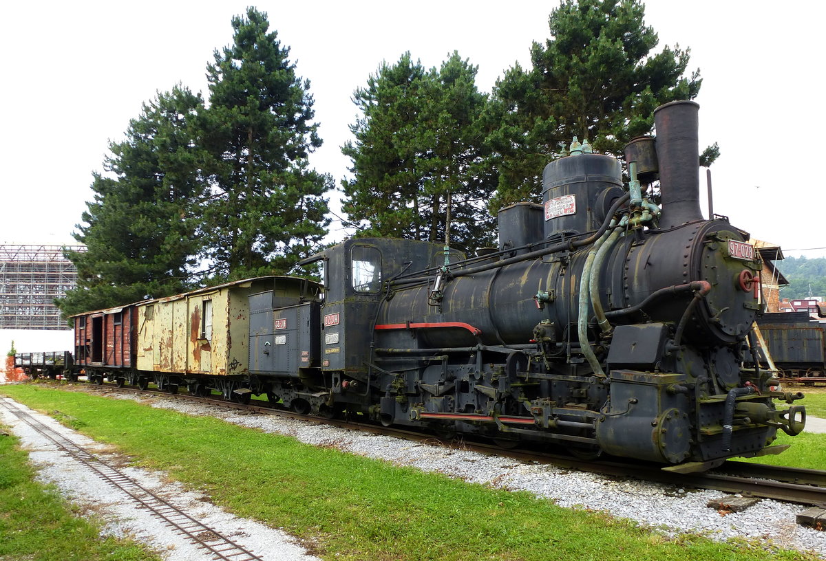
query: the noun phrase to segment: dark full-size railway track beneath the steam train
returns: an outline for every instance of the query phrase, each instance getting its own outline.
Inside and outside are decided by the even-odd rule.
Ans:
[[[411,441],[438,442],[442,446],[461,447],[463,450],[473,450],[482,454],[500,455],[525,462],[553,464],[564,469],[577,469],[616,478],[655,481],[675,488],[713,489],[724,493],[740,494],[744,497],[771,498],[782,502],[826,507],[826,471],[816,469],[796,469],[729,460],[719,468],[704,473],[676,474],[663,471],[661,469],[662,466],[659,464],[630,463],[621,459],[581,460],[569,455],[552,454],[537,450],[506,450],[501,448],[501,446],[486,442],[467,440],[449,441],[432,434],[423,434],[395,427],[382,427],[365,422],[292,413],[284,409],[273,408],[272,406],[264,404],[265,402],[243,404],[215,398],[201,398],[188,394],[169,394],[160,390],[149,389],[141,391],[140,389],[127,387],[119,388],[116,384],[93,384],[91,386],[83,383],[76,384],[81,384],[87,388],[105,389],[107,391],[154,394],[159,397],[186,399],[200,403],[209,403],[221,408],[278,415],[309,422],[324,423],[334,427],[394,436]]]

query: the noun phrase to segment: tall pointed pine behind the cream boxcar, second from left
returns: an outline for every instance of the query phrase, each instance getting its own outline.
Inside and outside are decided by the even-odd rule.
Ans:
[[[211,196],[202,237],[215,281],[289,271],[324,237],[332,187],[307,164],[321,140],[310,82],[297,77],[289,48],[253,7],[232,26],[233,44],[207,67]]]

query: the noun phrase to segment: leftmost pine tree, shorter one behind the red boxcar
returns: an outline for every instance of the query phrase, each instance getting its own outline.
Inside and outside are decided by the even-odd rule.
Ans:
[[[185,87],[160,93],[130,121],[94,173],[94,200],[74,238],[88,251],[69,252],[78,285],[58,299],[64,316],[150,297],[187,286],[198,252],[194,201],[202,195],[195,147],[200,96]]]

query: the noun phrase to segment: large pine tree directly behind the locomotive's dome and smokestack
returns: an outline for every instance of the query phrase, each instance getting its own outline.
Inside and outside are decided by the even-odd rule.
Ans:
[[[657,46],[638,0],[565,0],[551,12],[551,39],[531,47],[494,88],[488,137],[496,150],[499,191],[491,210],[538,200],[542,170],[573,136],[616,156],[653,127],[662,103],[693,99],[699,70],[686,78],[690,50]],[[713,154],[710,154],[713,156]]]

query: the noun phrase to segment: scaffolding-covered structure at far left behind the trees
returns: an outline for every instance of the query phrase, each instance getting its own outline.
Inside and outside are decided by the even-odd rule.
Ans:
[[[67,329],[54,299],[78,273],[64,250],[85,246],[0,245],[0,329]]]

